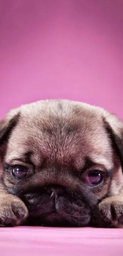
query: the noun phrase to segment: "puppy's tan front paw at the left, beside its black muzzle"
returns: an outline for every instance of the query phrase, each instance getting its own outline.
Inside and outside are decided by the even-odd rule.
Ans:
[[[17,196],[0,195],[0,227],[22,224],[28,217],[24,202]]]

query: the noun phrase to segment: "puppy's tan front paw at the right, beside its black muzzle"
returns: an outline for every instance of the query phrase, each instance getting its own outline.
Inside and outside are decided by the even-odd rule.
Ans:
[[[123,228],[123,197],[111,196],[102,200],[93,214],[92,225]]]

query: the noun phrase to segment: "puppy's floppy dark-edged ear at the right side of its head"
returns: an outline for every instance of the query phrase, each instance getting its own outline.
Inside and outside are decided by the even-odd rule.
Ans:
[[[114,114],[105,112],[104,124],[112,140],[112,144],[114,145],[114,148],[119,156],[123,171],[123,122]]]

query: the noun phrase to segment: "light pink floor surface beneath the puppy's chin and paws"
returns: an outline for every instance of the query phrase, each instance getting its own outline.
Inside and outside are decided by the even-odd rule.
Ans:
[[[1,256],[121,256],[122,229],[2,228]]]

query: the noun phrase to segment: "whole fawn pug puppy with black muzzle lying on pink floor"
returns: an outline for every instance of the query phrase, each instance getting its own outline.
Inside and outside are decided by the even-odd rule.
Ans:
[[[0,226],[123,226],[123,123],[46,100],[0,121]]]

